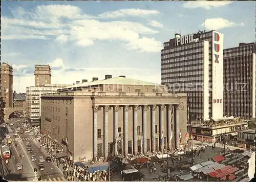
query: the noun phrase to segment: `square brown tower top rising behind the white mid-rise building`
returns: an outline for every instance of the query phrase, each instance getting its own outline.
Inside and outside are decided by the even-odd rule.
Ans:
[[[51,84],[51,67],[49,65],[35,65],[35,86]]]

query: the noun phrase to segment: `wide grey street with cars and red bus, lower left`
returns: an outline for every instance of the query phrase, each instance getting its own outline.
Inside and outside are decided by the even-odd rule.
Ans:
[[[9,124],[11,122],[9,121]],[[22,123],[21,121],[16,121],[12,128],[21,127]],[[15,130],[13,130],[14,132]],[[8,133],[10,134],[11,138],[14,133]],[[20,138],[14,138],[12,144],[9,144],[8,146],[11,149],[12,157],[9,160],[8,165],[3,165],[3,169],[5,170],[5,178],[7,180],[33,180],[35,177],[39,177],[44,175],[44,178],[42,180],[48,180],[48,181],[59,181],[59,180],[65,180],[63,175],[61,174],[61,171],[53,164],[44,162],[45,170],[39,171],[38,168],[38,157],[42,156],[44,159],[46,158],[46,155],[42,153],[39,148],[36,146],[35,140],[33,140],[34,135],[31,135],[29,133],[20,134]],[[32,153],[27,153],[27,146],[26,144],[30,143],[32,148]],[[36,161],[31,161],[31,156],[36,156]],[[22,158],[20,158],[22,156]],[[23,169],[17,170],[16,164],[22,163]],[[37,173],[34,173],[34,168],[37,168]]]

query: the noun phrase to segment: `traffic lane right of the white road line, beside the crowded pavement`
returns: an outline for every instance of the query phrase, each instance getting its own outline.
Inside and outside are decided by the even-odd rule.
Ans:
[[[24,143],[26,145],[26,142],[24,142]],[[42,156],[42,157],[44,157],[44,159],[46,159],[47,156],[43,152],[41,152],[39,150],[39,148],[37,148],[36,144],[33,141],[30,141],[30,145],[31,145],[31,148],[33,149],[33,153],[35,153],[37,156],[36,164],[38,166],[38,164],[39,164],[38,157]],[[40,171],[39,173],[37,172],[39,175],[45,174],[49,177],[62,176],[60,169],[57,166],[55,166],[53,163],[44,162],[43,164],[45,166],[45,170]],[[38,171],[39,171],[39,169],[38,169]]]

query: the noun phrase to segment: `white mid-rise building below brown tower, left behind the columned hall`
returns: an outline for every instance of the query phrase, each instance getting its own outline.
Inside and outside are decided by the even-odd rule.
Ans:
[[[69,85],[63,84],[44,84],[42,86],[27,87],[26,94],[26,118],[31,125],[40,124],[41,115],[41,94],[57,92],[57,89]]]

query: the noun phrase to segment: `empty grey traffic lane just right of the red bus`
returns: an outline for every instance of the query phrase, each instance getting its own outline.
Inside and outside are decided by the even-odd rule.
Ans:
[[[16,141],[15,143],[17,143],[16,149],[18,155],[24,155],[21,160],[23,164],[22,172],[24,173],[26,171],[24,177],[27,177],[28,179],[35,178],[34,168],[36,167],[36,164],[31,162],[30,156],[27,153],[27,147],[25,147],[22,142]]]

